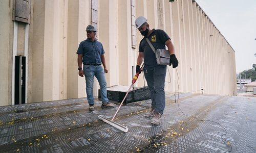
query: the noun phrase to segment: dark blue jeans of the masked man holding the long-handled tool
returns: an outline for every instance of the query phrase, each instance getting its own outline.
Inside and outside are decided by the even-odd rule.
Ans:
[[[165,108],[164,82],[166,75],[166,66],[158,65],[153,68],[143,69],[147,86],[151,93],[151,106],[156,112],[163,114]]]

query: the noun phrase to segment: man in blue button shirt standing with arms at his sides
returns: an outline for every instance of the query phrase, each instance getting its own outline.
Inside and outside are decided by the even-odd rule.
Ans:
[[[94,110],[93,97],[93,79],[97,78],[100,85],[100,95],[102,100],[101,108],[114,108],[115,106],[109,103],[106,97],[106,79],[105,73],[108,73],[108,68],[105,64],[104,49],[101,42],[95,38],[96,28],[93,25],[88,25],[86,28],[87,39],[83,40],[77,49],[78,74],[80,77],[86,77],[86,93],[89,103],[89,110]],[[83,68],[82,68],[83,63]],[[103,64],[104,69],[101,67]]]

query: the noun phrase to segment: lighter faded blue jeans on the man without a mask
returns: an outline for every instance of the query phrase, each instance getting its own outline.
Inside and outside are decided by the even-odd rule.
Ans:
[[[86,93],[89,104],[94,104],[93,97],[93,79],[97,78],[100,85],[100,96],[102,103],[107,103],[109,99],[106,97],[106,78],[104,69],[101,65],[83,65],[83,72],[86,76]]]

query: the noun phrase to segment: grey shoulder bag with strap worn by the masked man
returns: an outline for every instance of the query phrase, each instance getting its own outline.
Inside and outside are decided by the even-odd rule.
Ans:
[[[147,43],[152,48],[153,52],[156,55],[156,60],[158,65],[169,65],[170,63],[170,53],[169,50],[166,49],[155,49],[153,44],[146,38]]]

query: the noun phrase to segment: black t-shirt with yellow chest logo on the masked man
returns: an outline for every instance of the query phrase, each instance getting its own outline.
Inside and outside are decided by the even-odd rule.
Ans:
[[[170,37],[163,30],[153,29],[152,31],[153,32],[148,36],[148,39],[151,41],[155,49],[165,49],[165,41],[170,39]],[[147,43],[145,37],[140,41],[139,52],[144,53],[144,68],[157,66],[155,53]]]

